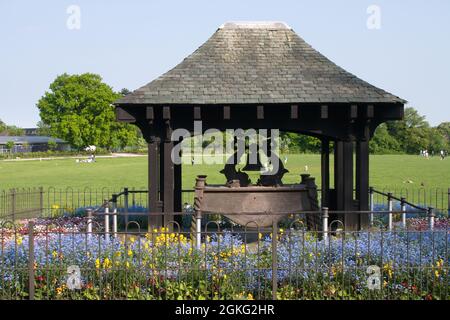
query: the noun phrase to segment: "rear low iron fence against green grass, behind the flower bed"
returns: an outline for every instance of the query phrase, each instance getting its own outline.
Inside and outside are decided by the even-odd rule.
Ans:
[[[450,212],[450,188],[390,189],[377,188],[374,193],[373,211],[387,210],[387,194],[394,198],[404,198],[407,202],[420,207],[433,207],[436,214],[447,215]],[[86,208],[100,207],[113,195],[117,196],[117,207],[122,211],[143,212],[148,208],[147,190],[140,188],[22,188],[0,191],[0,219],[24,219],[32,217],[55,217],[82,215]],[[320,198],[320,190],[319,190]],[[182,202],[192,204],[193,190],[183,190]],[[393,203],[394,209],[400,209],[401,202]]]

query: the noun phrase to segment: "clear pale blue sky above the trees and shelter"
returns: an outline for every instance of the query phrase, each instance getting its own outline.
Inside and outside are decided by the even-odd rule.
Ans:
[[[80,29],[69,29],[70,5]],[[371,5],[380,29],[369,29]],[[150,82],[225,21],[278,20],[360,78],[450,121],[448,0],[0,0],[0,119],[39,120],[36,102],[64,72],[100,74],[115,90]],[[72,21],[72,20],[71,20]]]

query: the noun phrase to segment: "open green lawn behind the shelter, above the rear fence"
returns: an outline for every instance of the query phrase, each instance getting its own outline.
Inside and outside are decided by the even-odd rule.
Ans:
[[[333,163],[333,159],[330,159]],[[284,182],[298,182],[299,174],[308,173],[320,184],[320,155],[288,155]],[[208,175],[210,183],[223,183],[219,173],[223,165],[183,165],[183,188],[194,185],[195,176]],[[257,180],[256,173],[251,174]],[[410,181],[408,183],[407,181]],[[411,183],[412,182],[412,183]],[[74,189],[122,187],[145,188],[147,158],[98,158],[96,163],[76,163],[75,159],[0,161],[0,190],[20,187],[55,187]],[[450,187],[450,159],[429,160],[412,155],[374,155],[370,157],[370,185],[391,189],[445,189]]]

